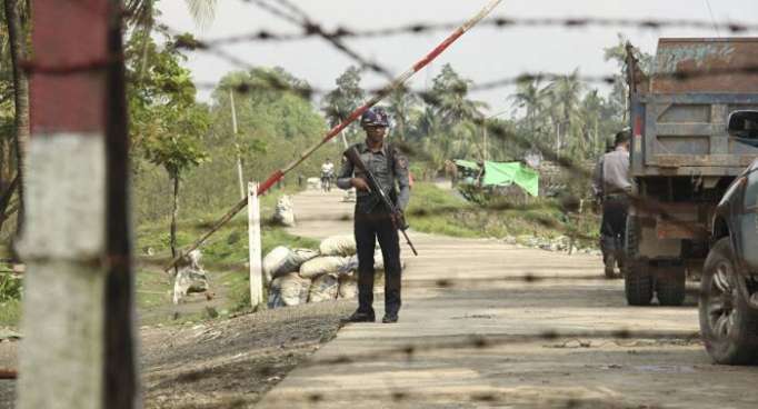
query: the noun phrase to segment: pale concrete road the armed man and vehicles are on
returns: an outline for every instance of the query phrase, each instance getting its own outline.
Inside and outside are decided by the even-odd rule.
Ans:
[[[295,233],[352,231],[341,193],[295,198]],[[410,220],[412,225],[412,220]],[[342,328],[262,408],[755,408],[758,368],[711,365],[692,296],[631,308],[591,256],[411,232],[396,325]],[[377,297],[381,301],[381,296]],[[382,306],[378,302],[377,313]]]

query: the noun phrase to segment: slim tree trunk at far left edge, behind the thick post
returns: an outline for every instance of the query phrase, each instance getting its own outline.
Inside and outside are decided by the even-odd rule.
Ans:
[[[26,158],[29,146],[29,79],[21,69],[21,61],[26,57],[23,29],[21,27],[21,16],[19,9],[22,0],[4,0],[6,21],[8,24],[8,38],[10,41],[11,63],[13,66],[13,102],[16,106],[14,130],[16,130],[16,164],[19,178],[19,213],[16,228],[18,238],[23,228],[24,203],[23,191],[26,184]]]

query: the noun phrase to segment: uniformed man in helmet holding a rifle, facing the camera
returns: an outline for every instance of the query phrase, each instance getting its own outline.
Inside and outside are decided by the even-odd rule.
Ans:
[[[361,160],[379,181],[382,190],[405,210],[410,199],[408,159],[395,147],[385,142],[389,118],[381,108],[363,113],[360,124],[366,141],[353,144]],[[397,188],[396,188],[397,183]],[[366,177],[350,160],[342,162],[337,177],[340,189],[356,188],[355,237],[358,248],[358,310],[348,322],[373,322],[373,250],[379,241],[385,260],[385,317],[382,322],[397,322],[400,311],[400,240],[389,209],[378,194],[370,191]]]

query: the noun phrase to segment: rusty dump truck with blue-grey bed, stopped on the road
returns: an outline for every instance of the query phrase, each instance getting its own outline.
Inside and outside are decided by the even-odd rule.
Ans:
[[[625,293],[632,306],[680,306],[708,256],[717,203],[758,156],[727,129],[732,112],[758,108],[758,38],[660,39],[651,72],[627,51]]]

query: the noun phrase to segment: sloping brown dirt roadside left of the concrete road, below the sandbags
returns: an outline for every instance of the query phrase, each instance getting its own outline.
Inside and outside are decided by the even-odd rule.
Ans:
[[[140,330],[146,408],[247,408],[331,340],[350,301],[323,302],[228,320]],[[16,368],[18,342],[0,343],[0,368]],[[0,380],[0,409],[14,381]]]

